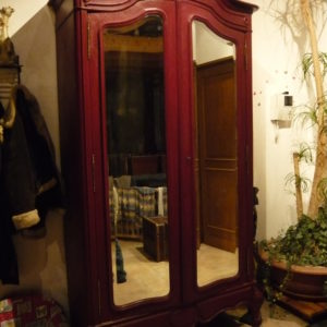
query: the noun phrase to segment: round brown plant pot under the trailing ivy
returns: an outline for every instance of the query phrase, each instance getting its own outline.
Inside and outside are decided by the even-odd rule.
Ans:
[[[272,288],[280,290],[280,284],[287,276],[288,268],[286,262],[272,261],[268,267],[268,253],[258,251],[258,264],[270,269],[270,283]],[[283,294],[304,301],[325,301],[327,292],[327,268],[320,266],[296,266],[292,265],[291,275],[281,290]]]

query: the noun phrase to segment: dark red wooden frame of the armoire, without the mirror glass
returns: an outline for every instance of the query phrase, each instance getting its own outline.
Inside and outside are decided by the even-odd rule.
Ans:
[[[72,326],[194,326],[241,304],[252,313],[253,326],[259,326],[263,298],[254,276],[252,173],[251,16],[256,7],[237,0],[50,0],[49,4],[56,11]],[[159,16],[164,28],[170,291],[165,296],[116,305],[110,249],[112,217],[107,201],[111,191],[105,140],[104,33],[119,31],[148,16]],[[235,206],[231,213],[237,211],[238,272],[204,287],[198,287],[196,281],[196,213],[201,210],[196,207],[198,197],[194,174],[197,158],[192,57],[194,21],[233,45],[235,76],[232,122],[237,137],[218,140],[218,143],[234,142],[237,159],[232,166],[228,166],[229,158],[219,159],[226,165],[219,169],[233,171],[237,180],[232,189],[234,198],[228,201]],[[210,47],[211,44],[207,44],[207,48]],[[223,114],[220,117],[223,119]],[[213,128],[210,121],[207,123],[215,131],[215,125]],[[219,125],[219,119],[217,123]],[[219,126],[225,128],[225,123]],[[208,196],[223,196],[229,192],[228,185],[225,186],[221,182],[221,190],[213,190],[216,186],[209,184]],[[210,210],[227,202],[220,198],[217,203],[213,201]]]

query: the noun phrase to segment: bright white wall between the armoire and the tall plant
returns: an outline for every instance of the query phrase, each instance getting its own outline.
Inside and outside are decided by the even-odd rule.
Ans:
[[[296,222],[295,198],[287,190],[284,179],[293,172],[292,148],[300,140],[312,141],[314,134],[312,129],[299,125],[276,129],[270,121],[271,97],[276,94],[290,92],[295,107],[308,102],[311,95],[306,92],[300,65],[301,52],[308,51],[308,46],[300,33],[295,34],[299,38],[295,43],[290,29],[279,25],[274,17],[274,7],[268,5],[270,0],[252,2],[261,8],[253,16],[253,118],[254,184],[259,187],[257,238],[263,239],[276,237]],[[288,2],[275,1],[275,4],[283,12]],[[304,26],[302,19],[300,24]],[[326,41],[324,31],[319,38],[320,50],[325,48],[326,51]],[[308,168],[306,174],[311,177],[312,169]]]

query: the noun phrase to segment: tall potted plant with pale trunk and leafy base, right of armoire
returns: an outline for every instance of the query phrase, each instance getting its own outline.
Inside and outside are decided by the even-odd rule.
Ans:
[[[295,117],[311,120],[316,140],[314,147],[301,144],[293,153],[294,172],[287,178],[295,191],[298,222],[282,235],[261,242],[258,257],[268,296],[274,294],[276,299],[276,294],[284,293],[302,300],[320,301],[327,299],[327,101],[324,93],[327,53],[318,50],[312,7],[316,4],[317,9],[322,1],[288,2],[298,5],[295,13],[302,15],[308,34],[311,53],[304,55],[302,69],[304,77],[312,78],[315,86],[315,104],[306,106],[306,110]],[[302,199],[302,192],[308,189],[307,179],[301,174],[303,160],[314,165],[307,213],[303,210]],[[278,291],[271,293],[271,287]]]

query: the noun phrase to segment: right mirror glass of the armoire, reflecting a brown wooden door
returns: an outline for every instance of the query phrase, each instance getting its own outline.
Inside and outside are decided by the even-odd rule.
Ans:
[[[239,270],[235,47],[198,21],[192,37],[197,284],[203,287]]]

